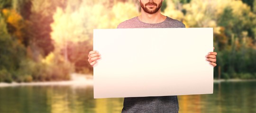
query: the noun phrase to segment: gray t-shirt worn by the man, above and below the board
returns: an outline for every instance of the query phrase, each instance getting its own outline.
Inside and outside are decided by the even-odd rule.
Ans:
[[[175,19],[166,17],[164,22],[148,24],[138,17],[131,18],[118,25],[118,28],[181,28],[185,25]],[[177,96],[164,97],[126,97],[122,113],[178,113]]]

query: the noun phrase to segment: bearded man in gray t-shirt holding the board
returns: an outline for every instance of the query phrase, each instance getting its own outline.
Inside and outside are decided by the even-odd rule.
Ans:
[[[138,0],[141,15],[131,18],[118,25],[118,28],[179,28],[185,25],[160,12],[163,0]],[[206,60],[216,66],[216,52],[209,52]],[[88,62],[91,66],[98,63],[101,55],[98,51],[90,51]],[[124,99],[122,113],[178,113],[177,96],[164,97],[127,97]]]

